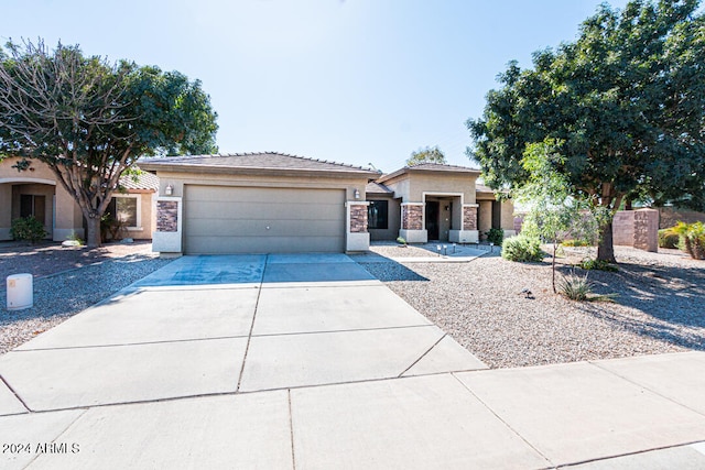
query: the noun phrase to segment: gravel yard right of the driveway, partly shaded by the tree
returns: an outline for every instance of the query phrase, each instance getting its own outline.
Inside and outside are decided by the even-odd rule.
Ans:
[[[565,250],[561,273],[590,249]],[[372,251],[401,263],[429,255],[393,244]],[[589,272],[596,293],[618,295],[614,303],[554,294],[550,258],[513,263],[488,253],[468,263],[358,262],[491,368],[705,350],[705,263],[676,250],[617,247],[616,255],[619,272]],[[520,294],[523,288],[533,298]]]

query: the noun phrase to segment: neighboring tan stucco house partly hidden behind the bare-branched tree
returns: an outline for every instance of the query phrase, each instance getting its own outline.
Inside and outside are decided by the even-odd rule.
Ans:
[[[34,216],[44,222],[50,240],[64,241],[72,236],[85,238],[84,217],[74,198],[57,184],[50,167],[29,160],[30,167],[18,171],[21,159],[6,159],[0,163],[0,240],[11,240],[12,220]],[[116,194],[111,201],[113,214],[126,227],[123,233],[133,239],[150,239],[153,228],[152,197],[159,182],[150,173],[134,181],[122,177],[124,193]]]

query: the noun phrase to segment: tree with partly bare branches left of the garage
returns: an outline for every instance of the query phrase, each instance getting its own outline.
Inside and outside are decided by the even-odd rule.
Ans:
[[[61,43],[0,48],[0,160],[46,163],[80,207],[89,247],[120,176],[141,156],[217,151],[216,119],[200,83],[177,72]]]

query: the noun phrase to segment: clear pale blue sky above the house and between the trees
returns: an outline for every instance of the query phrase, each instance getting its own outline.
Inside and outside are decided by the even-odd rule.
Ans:
[[[4,0],[0,39],[79,44],[200,79],[223,153],[276,151],[384,172],[438,145],[511,59],[576,37],[598,0]],[[625,0],[609,2],[623,7]]]

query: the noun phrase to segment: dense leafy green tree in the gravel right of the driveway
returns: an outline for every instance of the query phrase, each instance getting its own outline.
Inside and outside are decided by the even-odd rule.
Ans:
[[[611,216],[625,200],[705,207],[705,17],[697,0],[603,4],[575,42],[510,63],[468,120],[468,155],[494,188],[520,188],[528,144],[552,139],[546,162],[603,218],[598,259],[614,262]]]

